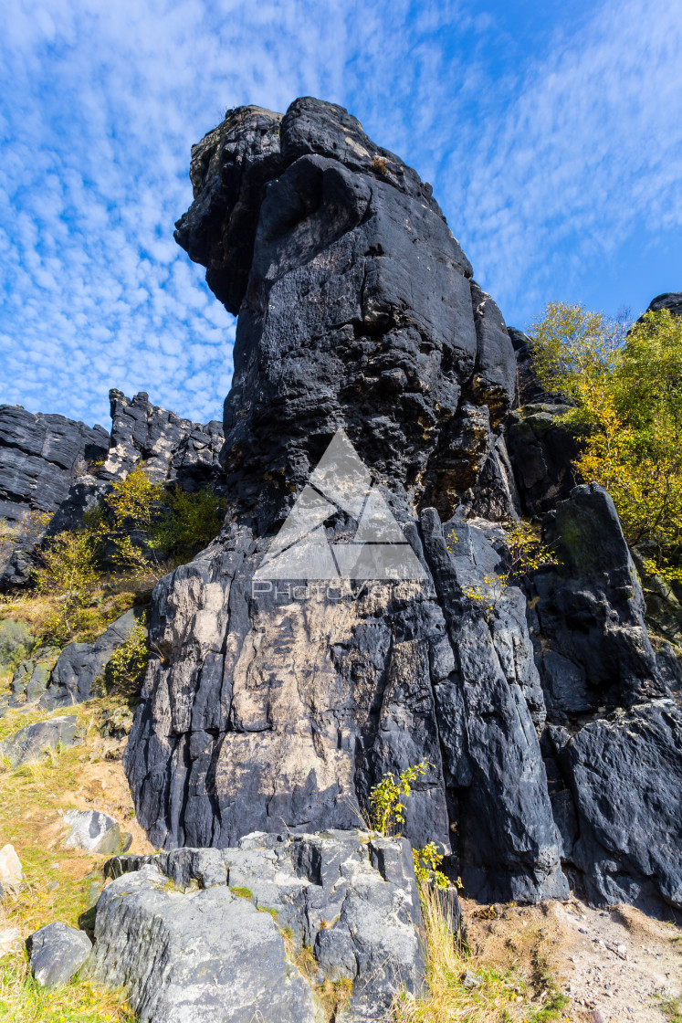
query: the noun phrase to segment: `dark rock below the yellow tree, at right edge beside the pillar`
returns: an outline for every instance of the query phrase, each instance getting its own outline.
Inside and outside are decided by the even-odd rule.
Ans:
[[[613,503],[577,487],[545,532],[561,564],[535,577],[530,619],[564,862],[591,900],[679,908],[682,714]]]

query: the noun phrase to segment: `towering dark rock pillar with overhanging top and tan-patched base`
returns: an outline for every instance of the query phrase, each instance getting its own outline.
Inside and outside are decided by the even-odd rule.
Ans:
[[[481,897],[565,893],[522,605],[509,597],[492,626],[460,620],[463,583],[442,564],[437,518],[419,523],[430,505],[445,520],[476,510],[491,460],[488,506],[513,515],[498,440],[514,356],[499,310],[430,188],[339,107],[231,112],[194,147],[191,174],[178,240],[239,312],[221,456],[229,509],[217,541],[154,592],[158,656],[126,754],[138,818],[166,848],[355,827],[371,785],[426,758],[407,806],[415,844],[437,840]],[[255,588],[339,429],[366,466],[357,486],[373,481],[424,580],[360,593],[347,581],[342,599],[324,586],[310,599]],[[329,505],[333,543],[364,499]],[[480,571],[468,547],[462,557]]]

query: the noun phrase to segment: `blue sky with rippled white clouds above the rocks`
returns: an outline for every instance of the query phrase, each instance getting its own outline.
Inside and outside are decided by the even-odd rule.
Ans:
[[[240,103],[347,106],[510,325],[682,290],[682,4],[4,0],[0,27],[0,402],[220,418],[234,321],[173,224]]]

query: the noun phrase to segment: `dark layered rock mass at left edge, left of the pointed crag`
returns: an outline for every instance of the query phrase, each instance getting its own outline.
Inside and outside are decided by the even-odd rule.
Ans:
[[[0,520],[13,534],[11,542],[0,541],[0,584],[26,581],[27,547],[42,539],[74,479],[107,448],[100,426],[0,405]]]

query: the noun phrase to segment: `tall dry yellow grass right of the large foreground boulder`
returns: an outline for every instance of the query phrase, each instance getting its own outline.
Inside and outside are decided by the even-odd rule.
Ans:
[[[457,943],[447,899],[438,891],[422,891],[426,992],[403,991],[395,1006],[397,1023],[545,1023],[561,1019],[566,998],[560,995],[546,963],[537,955],[533,977],[511,966],[492,965]],[[506,955],[509,963],[509,955]],[[466,988],[470,971],[479,978]]]

